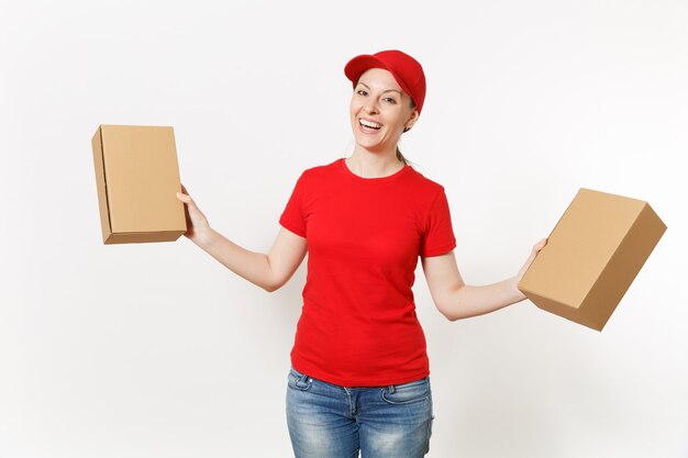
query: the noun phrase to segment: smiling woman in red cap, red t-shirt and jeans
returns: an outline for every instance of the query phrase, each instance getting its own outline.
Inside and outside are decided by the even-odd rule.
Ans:
[[[291,351],[287,423],[297,458],[415,458],[428,453],[432,395],[425,338],[411,287],[420,256],[433,302],[448,320],[519,302],[513,278],[464,284],[444,188],[397,147],[425,99],[421,65],[399,51],[348,62],[355,148],[298,179],[267,255],[226,239],[188,194],[188,238],[266,291],[309,253]],[[186,191],[186,190],[185,190]]]

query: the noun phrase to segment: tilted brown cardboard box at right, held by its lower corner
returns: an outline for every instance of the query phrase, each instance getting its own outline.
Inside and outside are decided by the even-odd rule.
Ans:
[[[581,188],[519,289],[539,308],[602,331],[664,231],[647,202]]]

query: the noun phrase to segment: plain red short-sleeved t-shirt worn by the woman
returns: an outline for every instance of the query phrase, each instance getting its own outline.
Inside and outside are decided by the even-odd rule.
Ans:
[[[301,174],[279,223],[308,243],[293,368],[344,387],[426,377],[411,287],[419,256],[456,247],[444,188],[408,165],[362,178],[340,158]]]

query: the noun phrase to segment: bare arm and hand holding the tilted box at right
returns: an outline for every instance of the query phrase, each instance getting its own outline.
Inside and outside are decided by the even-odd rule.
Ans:
[[[523,273],[545,246],[546,239],[540,241],[515,277],[485,286],[465,284],[456,266],[454,252],[441,256],[422,258],[423,272],[435,306],[450,321],[484,315],[503,309],[525,299],[518,284]]]

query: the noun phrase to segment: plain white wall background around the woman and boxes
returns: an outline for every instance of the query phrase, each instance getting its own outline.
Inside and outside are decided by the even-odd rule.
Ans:
[[[447,192],[467,282],[518,270],[579,187],[668,226],[602,333],[414,292],[431,457],[688,457],[686,1],[0,2],[0,457],[289,457],[304,268],[267,293],[186,238],[103,246],[97,126],[175,126],[211,224],[269,249],[300,172],[348,154],[346,60],[429,91],[402,150]],[[448,7],[448,4],[453,4]]]

